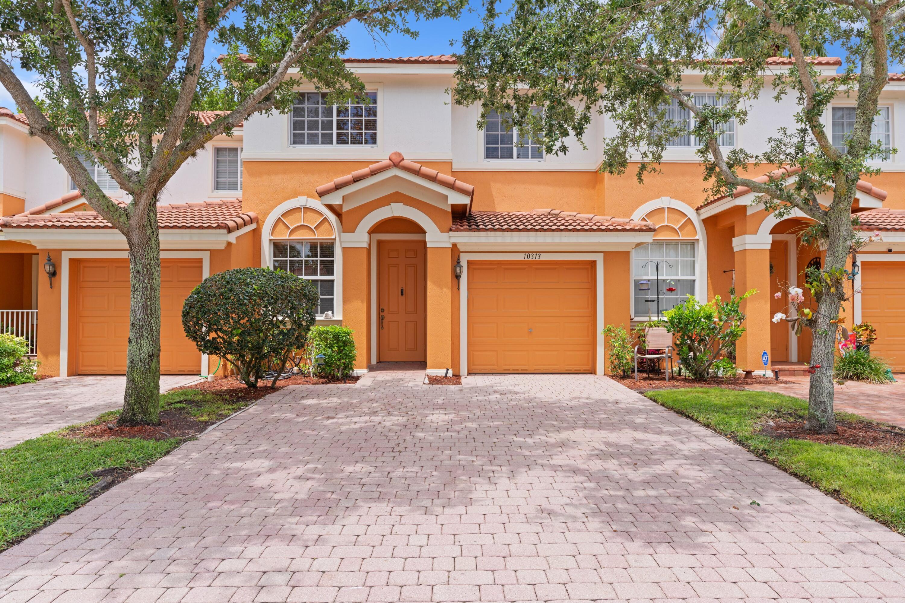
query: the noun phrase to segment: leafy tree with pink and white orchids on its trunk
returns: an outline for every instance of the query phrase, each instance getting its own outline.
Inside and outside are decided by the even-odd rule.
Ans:
[[[595,113],[605,114],[615,129],[604,140],[601,169],[622,174],[636,163],[639,180],[657,171],[670,139],[689,134],[665,119],[664,106],[676,103],[694,116],[691,135],[700,141],[711,197],[748,187],[767,212],[799,210],[814,220],[811,233],[826,248],[820,277],[830,286],[805,321],[814,334],[812,364],[820,365],[806,428],[833,432],[835,321],[846,262],[860,244],[855,187],[890,152],[871,129],[889,67],[905,58],[903,21],[900,0],[515,0],[508,15],[490,0],[481,27],[463,35],[453,92],[459,104],[481,103],[480,126],[497,110],[548,153],[566,152],[570,135],[581,144]],[[831,45],[843,49],[846,67],[821,77],[808,55]],[[777,55],[791,58],[787,70],[768,69]],[[724,94],[717,106],[696,104],[683,91],[682,74],[691,71]],[[746,103],[761,94],[794,98],[795,127],[778,129],[763,152],[720,148],[725,125],[744,123]],[[856,103],[843,147],[821,121],[841,94]],[[801,173],[791,184],[779,175],[746,177],[760,164]],[[825,196],[832,201],[821,203]]]

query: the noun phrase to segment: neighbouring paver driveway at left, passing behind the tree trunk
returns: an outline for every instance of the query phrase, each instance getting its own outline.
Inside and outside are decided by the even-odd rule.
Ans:
[[[160,391],[198,380],[162,375]],[[0,448],[42,436],[73,423],[84,423],[122,406],[125,377],[55,377],[0,388]]]

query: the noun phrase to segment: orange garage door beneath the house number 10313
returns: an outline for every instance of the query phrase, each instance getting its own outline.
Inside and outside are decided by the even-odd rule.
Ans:
[[[595,332],[594,263],[468,263],[469,372],[592,372]]]

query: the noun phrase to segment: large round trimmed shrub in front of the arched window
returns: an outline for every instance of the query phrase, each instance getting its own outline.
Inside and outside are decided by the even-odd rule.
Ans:
[[[282,369],[305,347],[318,289],[270,268],[236,268],[207,277],[186,298],[182,327],[204,354],[233,365],[249,388],[271,367]]]

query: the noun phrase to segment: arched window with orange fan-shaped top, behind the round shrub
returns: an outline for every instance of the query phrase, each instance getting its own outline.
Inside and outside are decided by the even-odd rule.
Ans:
[[[312,207],[292,207],[273,223],[270,238],[271,267],[318,286],[319,316],[335,311],[336,233],[327,216]]]

